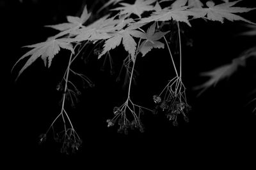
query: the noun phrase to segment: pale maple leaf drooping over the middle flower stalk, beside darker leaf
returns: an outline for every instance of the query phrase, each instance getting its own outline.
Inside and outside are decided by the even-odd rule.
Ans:
[[[126,29],[123,29],[121,31],[115,32],[111,38],[105,41],[104,43],[104,49],[102,53],[100,53],[99,57],[100,58],[102,55],[104,55],[106,52],[108,52],[111,49],[116,48],[116,46],[119,46],[121,41],[122,44],[124,45],[125,50],[131,54],[131,59],[134,61],[135,58],[135,50],[136,50],[136,41],[132,38],[132,36],[141,38],[141,32],[136,31],[135,29],[140,28],[145,24],[132,24]]]

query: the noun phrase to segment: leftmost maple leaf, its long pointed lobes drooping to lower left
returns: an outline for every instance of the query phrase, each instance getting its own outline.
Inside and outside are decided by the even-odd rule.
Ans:
[[[20,69],[19,75],[17,76],[17,78],[19,78],[20,74],[33,62],[35,62],[35,60],[38,59],[39,57],[41,57],[44,60],[45,66],[47,64],[47,59],[48,59],[48,67],[50,67],[54,55],[56,55],[60,51],[60,48],[70,50],[72,53],[74,53],[74,49],[70,42],[71,42],[70,38],[49,39],[43,43],[24,46],[24,47],[33,48],[33,49],[25,53],[24,55],[22,55],[22,57],[20,57],[20,59],[14,64],[13,67],[15,67],[16,64],[20,62],[20,60],[31,55],[31,57],[27,60],[26,64],[22,67],[22,69]]]

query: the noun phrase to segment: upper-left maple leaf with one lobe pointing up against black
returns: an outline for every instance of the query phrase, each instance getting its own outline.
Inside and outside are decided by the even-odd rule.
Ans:
[[[83,27],[84,22],[90,18],[91,13],[88,13],[86,6],[84,6],[83,13],[81,17],[73,17],[67,16],[67,23],[57,24],[57,25],[46,25],[45,27],[51,27],[53,29],[57,29],[59,31],[67,31],[67,30],[74,30],[79,29],[79,27]]]

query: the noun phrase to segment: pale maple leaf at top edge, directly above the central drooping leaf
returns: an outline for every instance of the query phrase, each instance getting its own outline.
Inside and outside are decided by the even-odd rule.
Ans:
[[[150,4],[154,3],[156,0],[136,0],[134,4],[120,3],[122,7],[115,8],[113,10],[120,10],[120,15],[134,13],[141,18],[141,14],[144,11],[152,11],[154,7]]]

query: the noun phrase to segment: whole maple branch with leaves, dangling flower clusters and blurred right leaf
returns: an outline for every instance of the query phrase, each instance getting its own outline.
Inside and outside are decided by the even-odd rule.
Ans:
[[[20,74],[39,57],[44,60],[45,66],[48,65],[48,67],[50,67],[52,59],[60,52],[61,48],[71,52],[68,67],[63,78],[63,81],[65,81],[65,87],[63,88],[64,93],[61,113],[56,117],[56,119],[62,117],[65,125],[65,131],[63,131],[65,135],[62,140],[62,152],[67,152],[67,148],[69,146],[71,146],[71,148],[77,148],[77,144],[81,144],[79,142],[80,138],[76,133],[74,133],[76,131],[74,131],[70,118],[65,111],[65,100],[68,96],[75,96],[75,94],[79,92],[74,83],[68,79],[69,73],[73,73],[76,76],[81,77],[83,81],[92,84],[86,76],[76,73],[70,68],[72,62],[77,58],[77,55],[79,55],[84,46],[88,45],[89,42],[95,44],[95,46],[104,43],[102,49],[97,48],[94,50],[98,59],[103,55],[108,55],[110,57],[109,52],[120,45],[124,46],[125,51],[128,53],[124,64],[129,75],[129,92],[127,100],[120,107],[114,108],[115,117],[107,120],[108,127],[113,126],[117,121],[118,125],[120,125],[118,132],[124,132],[127,134],[127,129],[134,129],[134,127],[143,131],[140,115],[142,113],[142,109],[148,110],[147,108],[132,103],[130,99],[131,81],[134,76],[134,64],[136,62],[136,58],[138,54],[141,54],[142,57],[147,55],[147,53],[153,48],[164,48],[164,43],[161,42],[162,38],[164,38],[169,50],[177,76],[168,82],[168,85],[166,85],[163,92],[154,96],[154,101],[159,104],[157,105],[157,108],[166,110],[166,117],[173,120],[173,125],[177,125],[177,115],[180,113],[184,116],[185,121],[188,121],[188,117],[186,117],[185,112],[189,110],[190,106],[186,101],[186,88],[182,83],[180,29],[178,29],[180,46],[180,72],[178,74],[172,57],[172,52],[165,38],[165,36],[168,36],[168,33],[173,30],[161,31],[161,25],[163,25],[163,23],[172,21],[176,23],[179,28],[179,23],[184,22],[186,25],[191,27],[189,20],[203,18],[204,20],[218,21],[221,23],[223,23],[224,19],[227,19],[230,21],[242,20],[249,24],[254,24],[253,22],[235,14],[255,10],[255,8],[234,7],[234,5],[239,3],[241,0],[233,2],[225,0],[220,4],[215,4],[214,1],[211,0],[207,1],[205,4],[200,0],[136,0],[132,4],[121,3],[121,1],[122,0],[111,0],[106,3],[98,13],[101,10],[104,10],[106,6],[110,6],[112,4],[118,5],[118,7],[113,8],[111,10],[113,12],[98,18],[92,23],[88,20],[92,16],[92,13],[88,13],[85,6],[80,17],[67,16],[67,23],[47,25],[46,27],[56,29],[60,32],[48,38],[45,42],[25,46],[33,49],[20,57],[14,65],[16,66],[20,60],[30,56],[26,64],[24,64],[22,69],[20,69],[17,76],[19,77]],[[145,28],[147,28],[147,31],[144,31]],[[81,47],[77,53],[75,50],[76,46]],[[76,55],[74,55],[75,53]],[[223,72],[232,74],[237,66],[243,66],[243,64],[243,59],[236,59],[232,62],[232,66],[224,66],[212,73],[204,73],[204,75],[214,76],[214,80],[210,80],[204,85],[201,85],[198,89],[214,85],[218,80],[225,77]],[[68,90],[70,85],[73,90]],[[61,85],[58,89],[61,89]],[[70,129],[66,127],[64,116],[68,119],[71,126]],[[56,119],[52,122],[50,128]],[[74,139],[71,139],[71,136],[73,136]],[[45,138],[42,138],[42,140],[43,139]]]

